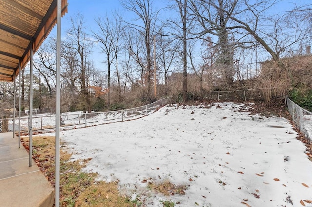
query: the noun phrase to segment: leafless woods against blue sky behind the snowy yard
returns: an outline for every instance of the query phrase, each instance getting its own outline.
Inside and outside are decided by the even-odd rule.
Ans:
[[[266,103],[289,93],[312,100],[311,4],[277,14],[272,0],[168,0],[158,9],[152,0],[120,3],[131,20],[112,11],[88,28],[80,13],[70,17],[61,43],[61,112],[129,108],[166,96],[187,102],[216,90],[261,89]],[[55,54],[50,36],[34,56],[35,108],[55,108]],[[21,77],[24,110],[27,69]],[[12,107],[13,88],[0,84],[1,111]]]

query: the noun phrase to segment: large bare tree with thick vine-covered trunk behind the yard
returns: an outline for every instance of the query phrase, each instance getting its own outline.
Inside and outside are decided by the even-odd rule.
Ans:
[[[238,0],[190,0],[191,11],[197,20],[199,29],[197,35],[205,37],[206,34],[214,35],[217,41],[210,39],[215,47],[219,48],[219,57],[216,61],[223,71],[225,83],[233,82],[233,55],[235,45],[230,41],[232,31],[231,18]],[[232,36],[233,38],[233,36]]]

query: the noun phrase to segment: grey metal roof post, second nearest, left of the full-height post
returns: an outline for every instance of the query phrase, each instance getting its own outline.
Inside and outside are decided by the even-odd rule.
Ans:
[[[33,161],[33,47],[30,47],[30,72],[29,72],[29,167],[32,166]]]

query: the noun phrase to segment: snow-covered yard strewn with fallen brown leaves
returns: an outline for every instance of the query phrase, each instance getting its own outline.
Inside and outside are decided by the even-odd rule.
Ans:
[[[133,121],[63,131],[62,147],[73,159],[92,158],[86,171],[119,180],[122,194],[149,207],[166,200],[180,207],[312,206],[312,162],[289,121],[244,110],[234,103],[165,106]],[[168,180],[186,185],[185,195],[147,187]]]

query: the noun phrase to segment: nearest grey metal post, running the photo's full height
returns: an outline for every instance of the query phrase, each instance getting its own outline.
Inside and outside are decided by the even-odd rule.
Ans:
[[[60,180],[60,35],[61,35],[62,0],[57,2],[57,75],[56,75],[56,112],[55,112],[55,207],[59,207],[59,180]]]

